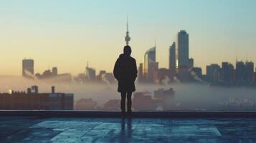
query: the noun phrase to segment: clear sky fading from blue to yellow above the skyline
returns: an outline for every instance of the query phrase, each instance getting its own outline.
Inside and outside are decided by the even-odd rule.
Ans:
[[[256,62],[254,0],[1,0],[0,75],[21,75],[22,59],[34,71],[57,66],[72,75],[90,67],[113,71],[125,46],[126,17],[137,65],[155,45],[159,67],[168,67],[169,46],[184,29],[194,66],[222,61]]]

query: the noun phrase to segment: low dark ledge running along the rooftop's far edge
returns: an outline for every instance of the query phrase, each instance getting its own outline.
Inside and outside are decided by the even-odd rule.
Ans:
[[[0,110],[0,116],[21,117],[120,117],[120,112],[105,111],[66,111],[66,110]],[[256,112],[222,111],[170,111],[170,112],[133,112],[132,117],[139,118],[256,118]]]

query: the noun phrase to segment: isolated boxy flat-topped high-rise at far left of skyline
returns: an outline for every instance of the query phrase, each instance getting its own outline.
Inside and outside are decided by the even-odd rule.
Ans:
[[[32,77],[34,75],[34,60],[23,59],[22,60],[22,76]]]

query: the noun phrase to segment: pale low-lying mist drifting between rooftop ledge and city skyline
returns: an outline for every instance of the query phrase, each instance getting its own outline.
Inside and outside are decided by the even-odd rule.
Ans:
[[[39,80],[29,80],[23,77],[0,77],[0,92],[26,91],[27,87],[37,85],[39,92],[51,92],[55,86],[56,92],[73,93],[74,100],[93,99],[97,106],[104,109],[110,99],[120,99],[117,84],[77,84],[49,83]],[[175,94],[156,104],[158,110],[255,110],[255,87],[214,87],[207,84],[136,84],[136,92],[149,92],[153,97],[156,89],[169,89],[172,87]],[[143,102],[143,101],[142,101]],[[142,103],[143,104],[143,103]],[[150,106],[144,104],[144,106]],[[159,108],[160,107],[160,108]],[[148,108],[148,110],[152,110]]]

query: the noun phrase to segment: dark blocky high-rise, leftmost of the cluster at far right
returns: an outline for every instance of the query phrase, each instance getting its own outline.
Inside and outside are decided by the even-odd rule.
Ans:
[[[219,82],[219,65],[211,64],[207,66],[207,80],[208,82],[217,83]]]

